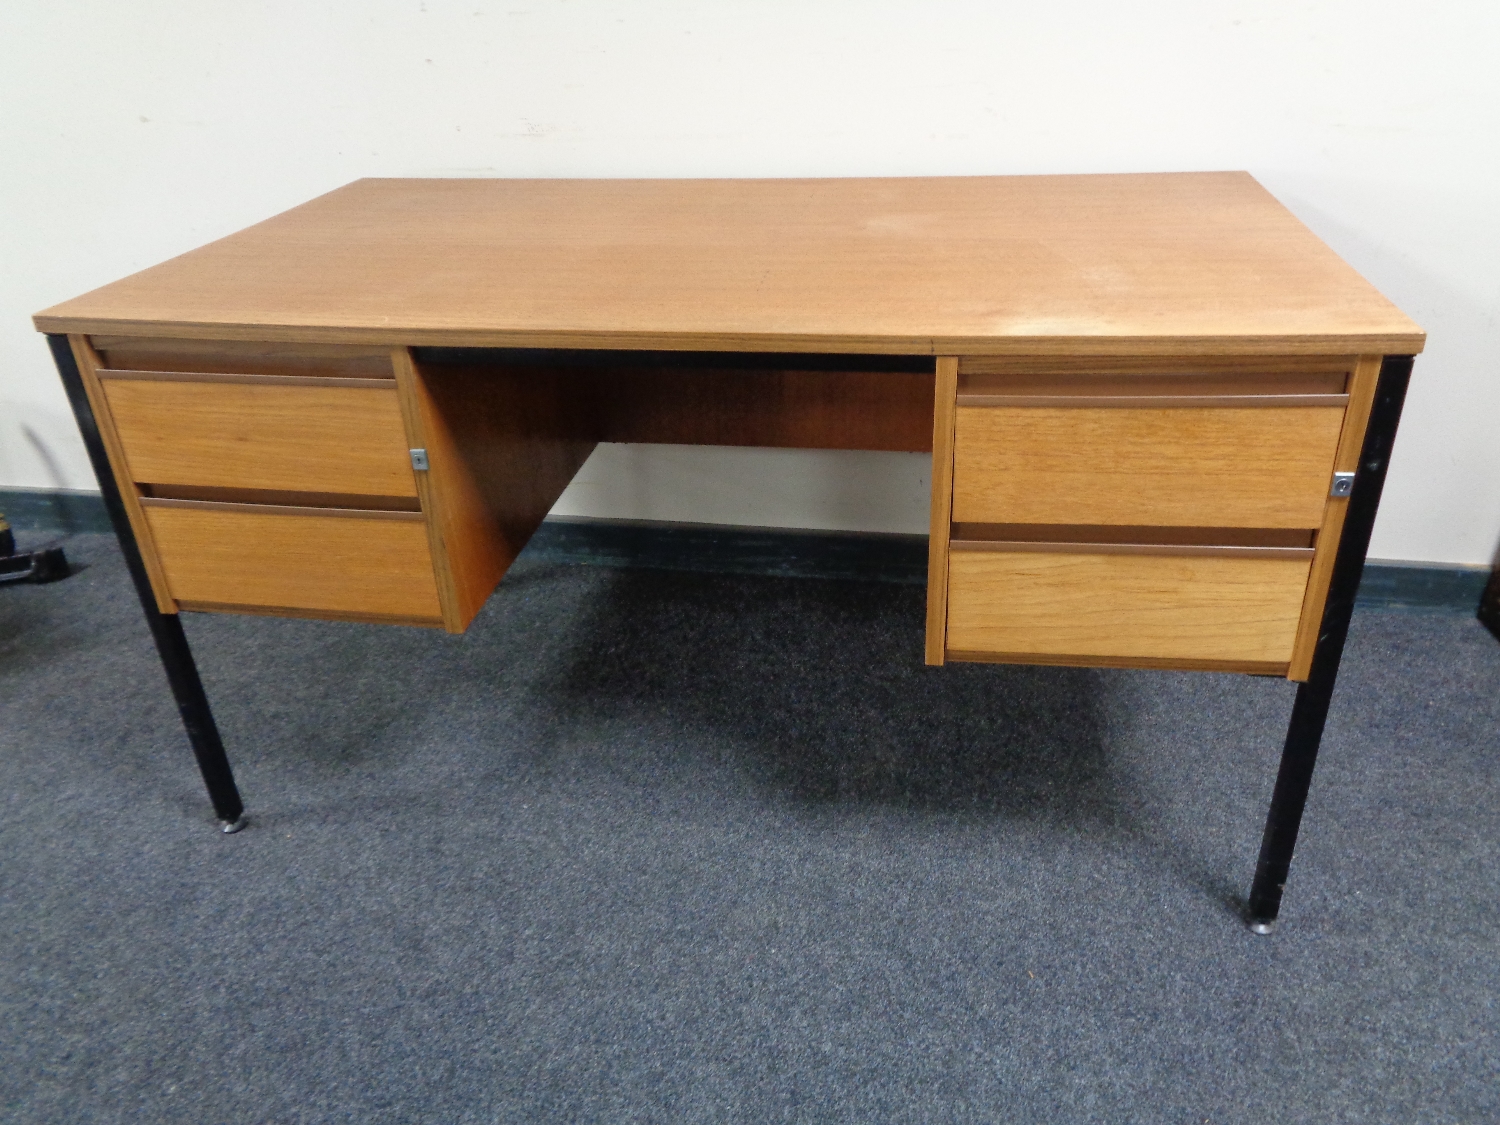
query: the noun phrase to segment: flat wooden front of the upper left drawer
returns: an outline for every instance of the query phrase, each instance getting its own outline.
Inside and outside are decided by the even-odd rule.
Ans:
[[[416,496],[394,381],[336,382],[100,372],[138,483]]]

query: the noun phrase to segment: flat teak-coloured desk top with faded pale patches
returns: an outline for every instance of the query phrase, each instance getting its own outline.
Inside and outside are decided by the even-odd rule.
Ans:
[[[904,354],[1410,354],[1245,172],[358,180],[42,332]]]

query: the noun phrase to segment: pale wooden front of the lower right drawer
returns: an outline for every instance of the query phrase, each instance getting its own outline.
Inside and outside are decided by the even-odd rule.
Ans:
[[[948,654],[1281,672],[1310,567],[1305,556],[954,550]]]

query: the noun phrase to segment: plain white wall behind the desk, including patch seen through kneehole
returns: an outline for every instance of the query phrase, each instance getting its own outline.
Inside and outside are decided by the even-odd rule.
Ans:
[[[6,0],[0,488],[90,488],[32,312],[360,176],[1248,168],[1422,324],[1371,555],[1500,537],[1484,0]],[[570,512],[926,528],[904,454],[606,450]]]

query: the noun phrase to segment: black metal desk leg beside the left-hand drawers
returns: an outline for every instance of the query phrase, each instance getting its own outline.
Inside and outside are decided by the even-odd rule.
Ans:
[[[135,582],[135,592],[141,598],[141,609],[146,610],[146,624],[152,628],[156,651],[162,656],[166,681],[172,686],[172,696],[177,699],[194,756],[198,759],[202,783],[208,788],[213,812],[224,822],[224,831],[237,832],[244,826],[244,802],[240,801],[240,790],[234,784],[234,772],[224,753],[219,728],[214,726],[213,711],[208,710],[208,696],[204,694],[202,681],[198,678],[198,666],[194,663],[192,650],[188,648],[182,621],[176,614],[164,614],[156,606],[156,594],[152,591],[146,562],[141,561],[141,549],[130,530],[130,520],[124,514],[124,502],[120,500],[120,489],[116,488],[110,458],[99,438],[99,424],[88,405],[88,394],[84,392],[82,376],[78,374],[78,363],[74,360],[68,338],[48,336],[46,344],[52,350],[57,374],[62,375],[63,387],[68,390],[68,402],[78,420],[78,432],[82,434],[88,460],[93,464],[94,476],[99,477],[99,490],[104,494],[110,522],[114,524],[114,534],[120,538],[120,550]]]

